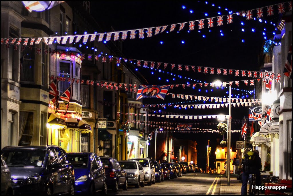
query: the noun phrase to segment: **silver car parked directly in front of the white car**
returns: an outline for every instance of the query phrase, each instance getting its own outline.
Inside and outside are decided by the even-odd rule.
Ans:
[[[121,168],[127,173],[128,185],[136,188],[144,187],[144,168],[138,161],[119,161]]]

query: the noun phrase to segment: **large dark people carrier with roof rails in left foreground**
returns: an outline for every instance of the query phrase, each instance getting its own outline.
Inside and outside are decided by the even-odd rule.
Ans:
[[[74,195],[74,169],[60,146],[6,146],[1,154],[15,194]]]

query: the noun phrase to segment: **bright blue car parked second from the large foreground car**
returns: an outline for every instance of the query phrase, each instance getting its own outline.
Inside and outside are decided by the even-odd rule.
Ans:
[[[75,193],[94,194],[101,190],[107,194],[107,184],[104,166],[95,153],[71,152],[67,157],[74,168]]]

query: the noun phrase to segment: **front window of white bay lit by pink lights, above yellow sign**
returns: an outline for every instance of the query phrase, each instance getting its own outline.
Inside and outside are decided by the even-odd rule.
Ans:
[[[59,62],[59,76],[65,78],[71,78],[71,70],[70,70],[70,62],[68,61],[60,61]],[[67,81],[59,81],[59,94],[62,95],[67,88],[70,86],[70,82]]]

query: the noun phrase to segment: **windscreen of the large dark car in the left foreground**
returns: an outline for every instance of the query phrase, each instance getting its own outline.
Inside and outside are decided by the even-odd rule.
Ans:
[[[2,151],[2,156],[9,167],[42,167],[46,150],[41,149],[15,149]]]

